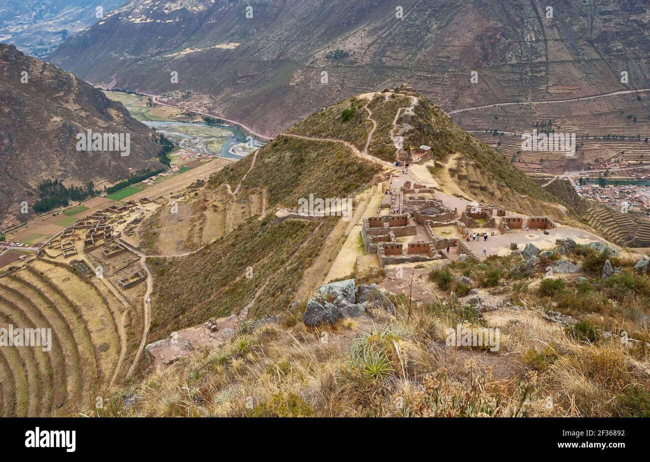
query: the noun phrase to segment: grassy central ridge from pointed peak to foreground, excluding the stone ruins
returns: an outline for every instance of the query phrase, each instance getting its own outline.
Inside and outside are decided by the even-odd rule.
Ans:
[[[403,150],[397,136],[404,137]],[[365,209],[359,200],[354,215],[373,216],[387,197],[382,187],[367,186],[404,178],[387,159],[415,154],[421,140],[430,143],[428,156],[435,161],[411,163],[414,180],[426,167],[433,167],[434,174],[443,169],[436,163],[456,159],[468,172],[480,174],[481,185],[497,190],[496,201],[507,202],[501,195],[510,191],[528,198],[535,213],[556,206],[537,183],[412,88],[363,94],[321,109],[256,154],[214,174],[201,191],[170,198],[179,209],[192,210],[183,219],[198,228],[209,227],[216,210],[251,213],[198,251],[147,258],[155,275],[148,341],[161,341],[148,345],[151,362],[140,364],[138,376],[109,396],[103,409],[88,413],[646,415],[650,279],[639,265],[647,267],[647,257],[614,256],[602,243],[606,250],[599,252],[596,242],[562,239],[560,245],[550,236],[541,238],[548,253],[530,257],[528,262],[538,261],[530,266],[510,250],[504,256],[465,254],[458,260],[447,251],[450,258],[432,266],[397,263],[369,273],[357,266],[343,282],[322,285],[331,273],[326,262],[332,253],[338,260],[348,242],[356,240],[350,230],[358,222],[346,226],[335,217],[273,212],[295,210],[298,200],[310,194],[350,197],[370,190],[380,200],[374,206],[367,202]],[[549,190],[576,207],[567,188],[560,184]],[[252,213],[252,199],[259,196],[263,205]],[[167,207],[161,210],[150,223],[152,234],[162,231],[172,215]],[[341,228],[348,234],[337,232]],[[505,237],[536,239],[545,236],[541,231]],[[508,241],[502,245],[509,247]],[[547,265],[554,264],[579,271],[549,277]],[[603,265],[609,264],[617,271],[603,277]],[[307,313],[311,316],[313,304],[320,302],[304,297],[317,288],[334,304],[347,294],[365,308],[314,326]],[[231,313],[238,316],[226,318]],[[210,317],[220,319],[205,322]],[[489,334],[490,347],[486,340],[451,340],[450,332],[467,327],[497,328]],[[170,331],[174,334],[168,336]],[[468,332],[467,338],[480,331],[463,335]]]

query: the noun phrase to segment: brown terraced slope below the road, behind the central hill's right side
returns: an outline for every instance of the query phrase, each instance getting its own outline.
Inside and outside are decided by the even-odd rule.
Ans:
[[[563,169],[595,166],[612,158],[632,165],[647,163],[649,98],[650,92],[636,92],[575,102],[498,105],[452,116],[517,168],[532,173],[561,173]],[[534,129],[540,133],[548,130],[575,134],[577,154],[567,157],[565,152],[523,150],[521,134],[531,134]]]

